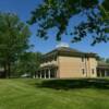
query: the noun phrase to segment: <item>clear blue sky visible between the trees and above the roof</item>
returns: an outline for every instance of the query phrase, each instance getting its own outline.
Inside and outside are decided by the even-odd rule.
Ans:
[[[33,11],[39,3],[41,3],[41,0],[0,0],[0,11],[16,13],[23,22],[26,22],[31,17],[31,11]],[[75,16],[70,21],[70,25],[76,25],[76,23],[81,20],[81,16]],[[32,32],[29,44],[35,46],[34,48],[31,48],[32,51],[40,51],[46,53],[55,49],[59,44],[56,41],[55,31],[49,33],[50,37],[48,40],[44,40],[36,36],[36,25],[32,25],[29,28]],[[72,44],[70,40],[71,36],[62,35],[61,41],[69,44],[71,48],[84,52],[95,52],[102,58],[109,58],[109,43],[101,43],[92,47],[89,35],[81,43]]]

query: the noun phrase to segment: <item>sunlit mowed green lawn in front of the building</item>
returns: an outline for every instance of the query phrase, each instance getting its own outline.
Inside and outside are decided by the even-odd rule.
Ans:
[[[72,86],[73,81],[64,81],[71,84],[64,86],[64,82],[57,83],[57,80],[50,87],[47,82],[50,83],[31,78],[0,80],[0,109],[109,109],[108,87],[87,87],[90,84],[82,87],[78,83],[76,87]]]

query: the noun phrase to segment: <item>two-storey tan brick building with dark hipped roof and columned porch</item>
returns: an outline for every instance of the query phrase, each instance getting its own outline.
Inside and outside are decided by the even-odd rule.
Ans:
[[[70,47],[58,47],[44,55],[38,78],[98,77],[109,75],[109,64],[99,63],[98,56]]]

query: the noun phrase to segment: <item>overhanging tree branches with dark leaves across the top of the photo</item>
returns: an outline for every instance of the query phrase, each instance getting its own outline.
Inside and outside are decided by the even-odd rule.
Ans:
[[[74,15],[86,16],[85,22],[81,22],[68,31],[69,22]],[[92,34],[92,45],[109,40],[109,0],[44,0],[38,8],[32,12],[28,21],[32,25],[38,24],[37,36],[47,39],[50,28],[58,28],[57,40],[61,40],[62,34],[72,37],[72,43],[80,41]]]

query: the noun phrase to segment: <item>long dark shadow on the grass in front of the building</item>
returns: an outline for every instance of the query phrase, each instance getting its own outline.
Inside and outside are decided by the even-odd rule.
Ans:
[[[64,90],[74,88],[109,89],[109,80],[105,78],[47,80],[37,84],[37,87],[64,89]]]

